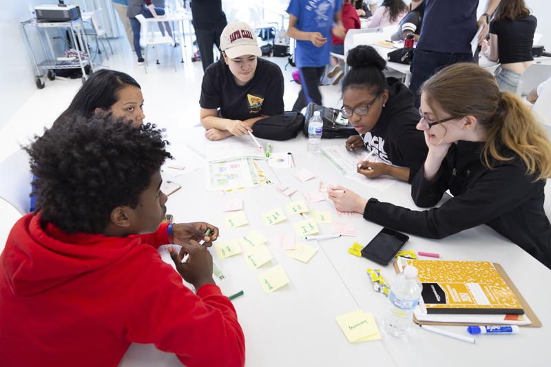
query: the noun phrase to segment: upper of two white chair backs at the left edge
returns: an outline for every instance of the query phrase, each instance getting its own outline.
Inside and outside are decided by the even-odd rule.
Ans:
[[[21,216],[30,211],[32,174],[29,156],[19,149],[0,163],[0,198],[6,200]]]

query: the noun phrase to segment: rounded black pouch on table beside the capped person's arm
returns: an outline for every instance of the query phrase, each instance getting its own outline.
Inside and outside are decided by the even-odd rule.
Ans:
[[[256,121],[253,134],[262,139],[289,140],[296,138],[304,125],[304,116],[300,112],[289,111]]]

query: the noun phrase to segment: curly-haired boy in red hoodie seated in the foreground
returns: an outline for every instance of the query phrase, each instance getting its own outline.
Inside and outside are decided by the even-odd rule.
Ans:
[[[243,366],[236,311],[197,242],[210,246],[218,229],[161,224],[170,154],[159,129],[73,115],[26,150],[37,212],[14,225],[0,255],[2,366],[116,366],[132,342],[189,367]],[[182,246],[169,248],[179,274],[157,251],[169,243]]]

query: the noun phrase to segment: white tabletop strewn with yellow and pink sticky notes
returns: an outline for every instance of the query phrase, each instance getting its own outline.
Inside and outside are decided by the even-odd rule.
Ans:
[[[187,134],[187,133],[185,133]],[[185,134],[174,134],[183,136]],[[194,144],[206,143],[195,134],[188,135]],[[238,140],[238,138],[231,138]],[[247,141],[247,138],[240,138]],[[169,140],[171,137],[169,136]],[[261,140],[264,147],[266,140]],[[306,140],[302,134],[288,142],[272,142],[273,151],[292,151],[296,168],[271,169],[267,165],[265,173],[276,182],[284,182],[299,189],[291,196],[292,200],[302,198],[300,192],[314,191],[319,180],[340,183],[368,197],[394,202],[416,209],[410,199],[409,186],[396,182],[388,191],[368,190],[359,182],[340,176],[321,156],[306,153]],[[323,140],[322,146],[342,144],[344,140]],[[308,168],[316,178],[301,183],[293,174]],[[268,238],[282,231],[293,233],[291,222],[300,218],[287,216],[287,221],[268,227],[260,218],[260,213],[280,207],[289,202],[275,188],[264,186],[238,193],[222,195],[205,191],[204,172],[201,170],[176,178],[183,188],[169,197],[167,207],[177,222],[207,220],[220,227],[220,239],[235,238],[252,229],[258,229]],[[243,198],[244,209],[249,225],[229,230],[220,224],[225,216],[220,210],[220,201],[227,198]],[[339,220],[329,200],[309,204],[311,210],[329,210],[333,220]],[[362,308],[372,312],[380,323],[386,297],[375,293],[366,275],[366,269],[381,268],[364,258],[355,258],[346,249],[353,242],[367,243],[380,231],[380,226],[363,218],[347,218],[355,224],[356,238],[337,238],[313,244],[319,251],[309,264],[293,260],[269,244],[274,260],[267,266],[251,271],[240,255],[215,261],[229,276],[229,288],[236,286],[245,295],[236,298],[238,317],[245,331],[247,345],[247,366],[464,366],[465,358],[472,366],[486,365],[489,358],[499,361],[500,366],[544,366],[547,356],[547,340],[551,337],[546,326],[551,322],[548,305],[551,293],[551,271],[517,245],[508,242],[500,235],[481,226],[444,240],[427,240],[410,236],[405,249],[415,249],[440,253],[444,259],[489,260],[499,262],[519,288],[526,300],[543,323],[543,328],[521,328],[519,335],[501,337],[477,337],[477,344],[467,344],[434,335],[415,328],[416,337],[395,339],[383,336],[382,342],[349,344],[335,322],[335,316]],[[331,224],[320,224],[321,233],[331,233]],[[310,243],[312,244],[312,243]],[[281,264],[291,283],[271,294],[264,294],[256,275]],[[393,277],[391,266],[382,268],[387,280]],[[222,283],[222,292],[229,294]],[[456,333],[466,334],[464,326],[447,326]],[[178,366],[176,357],[161,353],[153,346],[132,345],[121,366]]]

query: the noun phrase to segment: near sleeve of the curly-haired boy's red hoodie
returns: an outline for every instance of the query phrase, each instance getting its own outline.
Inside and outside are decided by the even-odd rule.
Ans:
[[[155,255],[134,262],[141,271],[134,280],[127,339],[153,343],[159,350],[176,354],[187,367],[243,366],[245,336],[229,298],[214,284],[194,294]]]

